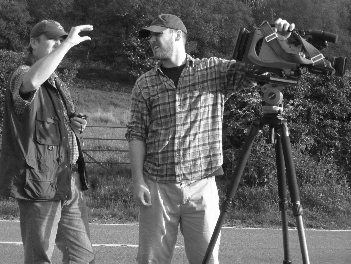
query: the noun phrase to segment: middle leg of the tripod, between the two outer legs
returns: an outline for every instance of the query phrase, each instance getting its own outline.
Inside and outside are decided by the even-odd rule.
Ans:
[[[277,142],[276,148],[276,163],[277,163],[277,178],[278,178],[278,196],[279,196],[279,211],[282,216],[282,230],[283,230],[283,250],[284,261],[283,264],[291,264],[290,250],[289,250],[289,234],[287,224],[287,199],[286,199],[286,179],[285,179],[285,163],[283,157],[283,148],[280,136],[276,133]]]

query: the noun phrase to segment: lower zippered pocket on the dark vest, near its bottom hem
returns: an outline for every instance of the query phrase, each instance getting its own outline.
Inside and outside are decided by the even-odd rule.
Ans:
[[[37,162],[37,165],[32,162],[33,160],[27,160],[27,171],[26,171],[26,181],[24,184],[24,190],[26,194],[35,200],[51,199],[55,196],[57,191],[56,186],[56,169],[55,166],[49,166],[45,162]],[[37,160],[34,160],[37,161]],[[34,165],[34,167],[31,166]],[[40,171],[39,171],[40,170]]]

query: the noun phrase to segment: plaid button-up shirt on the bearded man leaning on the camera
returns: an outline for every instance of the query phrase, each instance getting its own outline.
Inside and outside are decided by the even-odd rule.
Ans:
[[[146,142],[144,174],[151,180],[193,182],[221,166],[224,102],[254,85],[234,64],[187,55],[177,88],[161,62],[138,78],[126,138]]]

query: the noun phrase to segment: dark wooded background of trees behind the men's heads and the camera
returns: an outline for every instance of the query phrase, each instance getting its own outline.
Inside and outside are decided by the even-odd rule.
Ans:
[[[137,38],[138,30],[155,15],[172,13],[188,29],[186,48],[194,57],[230,58],[239,27],[273,22],[278,16],[298,29],[338,34],[328,52],[350,57],[350,10],[349,0],[0,0],[0,49],[21,51],[31,27],[43,19],[59,21],[66,31],[91,24],[94,30],[86,34],[92,40],[75,47],[70,57],[140,74],[150,68],[144,61],[151,50],[146,39]]]

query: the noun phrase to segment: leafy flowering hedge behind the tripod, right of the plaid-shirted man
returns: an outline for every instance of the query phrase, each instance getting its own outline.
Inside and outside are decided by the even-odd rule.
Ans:
[[[288,120],[292,151],[300,181],[308,177],[349,177],[351,168],[350,77],[306,74],[299,87],[284,94],[284,118]],[[258,88],[235,94],[225,105],[223,119],[224,169],[231,174],[240,155],[251,120],[262,115]],[[255,140],[241,183],[271,186],[276,178],[275,151],[265,143],[263,127]],[[299,161],[301,155],[304,162]],[[316,165],[318,164],[318,165]],[[333,164],[333,170],[328,169]]]

